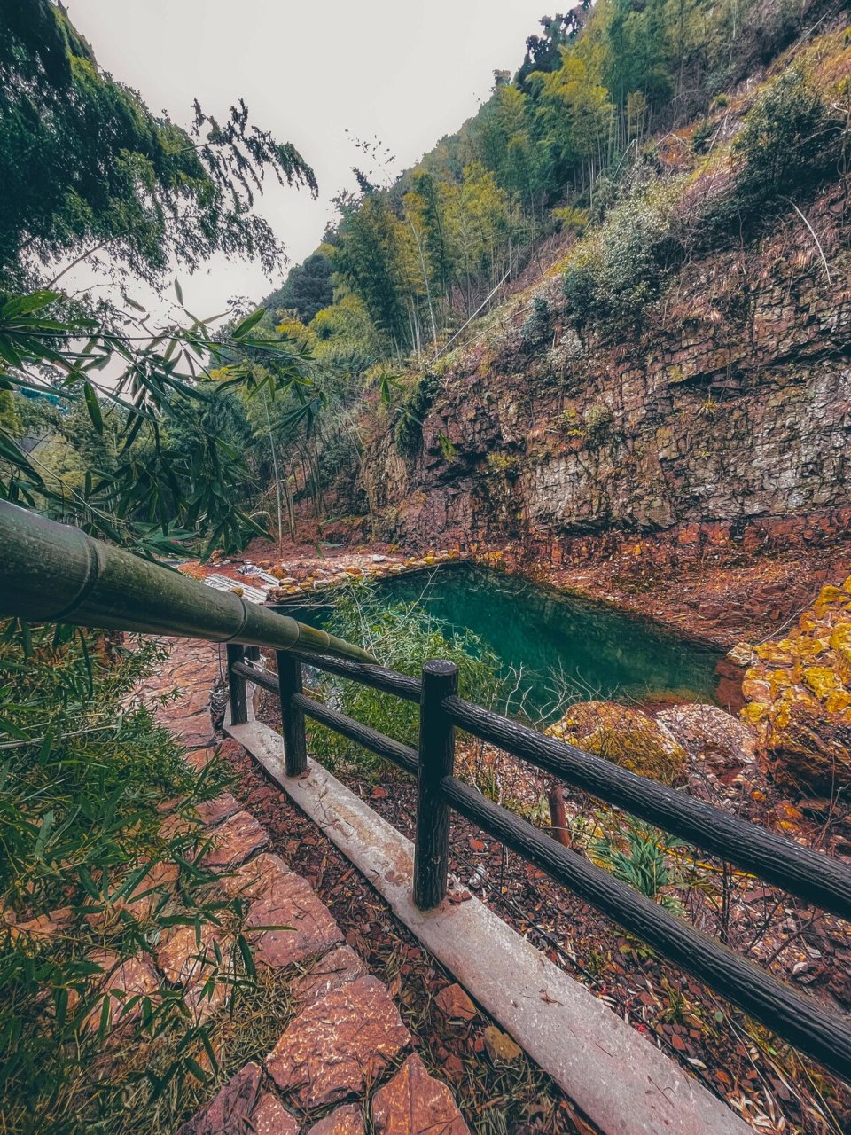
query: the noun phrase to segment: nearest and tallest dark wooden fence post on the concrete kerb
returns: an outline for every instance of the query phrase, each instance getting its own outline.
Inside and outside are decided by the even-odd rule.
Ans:
[[[446,894],[449,864],[449,807],[440,797],[444,776],[455,765],[455,726],[440,703],[458,689],[458,667],[453,662],[427,662],[422,667],[420,701],[420,770],[414,844],[414,903],[431,910]]]

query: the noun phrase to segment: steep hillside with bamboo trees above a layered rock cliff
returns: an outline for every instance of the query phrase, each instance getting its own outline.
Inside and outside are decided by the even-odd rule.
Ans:
[[[269,300],[317,515],[531,546],[839,507],[850,44],[840,3],[600,0],[361,171]]]

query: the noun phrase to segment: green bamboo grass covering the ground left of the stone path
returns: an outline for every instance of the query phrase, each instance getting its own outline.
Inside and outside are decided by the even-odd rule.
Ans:
[[[103,951],[136,955],[182,924],[233,924],[238,934],[241,905],[208,896],[209,876],[189,861],[195,806],[228,775],[218,759],[193,770],[148,709],[128,705],[162,665],[158,645],[125,647],[61,627],[0,631],[3,1129],[171,1130],[163,1093],[192,1091],[209,1028],[179,990],[104,999]],[[178,878],[174,892],[158,889],[153,873],[163,868]],[[27,928],[51,915],[57,932]],[[234,995],[251,985],[238,940],[233,956],[209,960],[210,980],[227,981]],[[110,1009],[126,1018],[124,1059],[108,1039]],[[214,1057],[210,1068],[216,1075]]]

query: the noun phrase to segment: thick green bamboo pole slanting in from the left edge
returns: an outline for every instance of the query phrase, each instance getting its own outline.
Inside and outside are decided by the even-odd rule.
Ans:
[[[374,662],[359,646],[0,502],[0,617],[309,650]]]

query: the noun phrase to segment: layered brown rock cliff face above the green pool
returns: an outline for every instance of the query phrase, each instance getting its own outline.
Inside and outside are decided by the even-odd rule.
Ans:
[[[519,540],[566,560],[612,533],[699,547],[696,530],[846,532],[843,209],[835,194],[810,212],[829,280],[807,228],[787,220],[758,246],[693,261],[641,328],[578,334],[551,277],[542,346],[525,342],[517,304],[431,379],[421,439],[418,427],[406,452],[389,432],[372,444],[363,482],[377,535]]]

